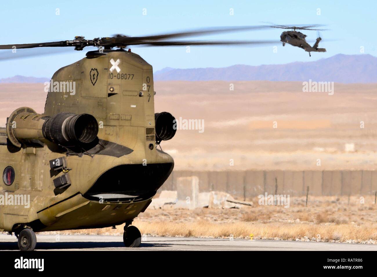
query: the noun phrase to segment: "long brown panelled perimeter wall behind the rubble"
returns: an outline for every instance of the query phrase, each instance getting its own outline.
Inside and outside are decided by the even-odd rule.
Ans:
[[[377,171],[173,171],[161,190],[176,190],[177,178],[198,176],[199,191],[225,191],[240,198],[259,194],[342,196],[374,194]],[[276,178],[276,180],[275,180]]]

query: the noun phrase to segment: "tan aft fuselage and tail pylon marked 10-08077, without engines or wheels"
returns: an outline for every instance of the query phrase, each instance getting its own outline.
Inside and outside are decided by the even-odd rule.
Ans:
[[[89,55],[88,55],[89,54]],[[0,229],[34,231],[100,228],[130,222],[151,202],[173,170],[173,159],[155,147],[152,66],[126,51],[87,54],[59,69],[53,82],[76,84],[75,93],[49,91],[43,115],[93,115],[98,144],[82,153],[51,143],[14,147],[0,142],[0,172],[14,169],[2,195],[29,195],[29,207],[0,202]],[[64,157],[64,171],[50,161]],[[67,174],[70,184],[56,188]]]

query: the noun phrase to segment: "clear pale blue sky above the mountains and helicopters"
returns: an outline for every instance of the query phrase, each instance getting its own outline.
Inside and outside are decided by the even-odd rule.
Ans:
[[[276,24],[326,24],[320,47],[326,53],[308,53],[277,43],[263,47],[185,46],[131,47],[153,69],[164,67],[225,67],[234,64],[283,64],[293,61],[314,61],[335,54],[377,56],[376,1],[4,1],[0,10],[2,34],[0,44],[37,43],[105,37],[112,34],[131,36],[160,34],[210,26],[260,25],[261,21]],[[56,9],[60,15],[56,15]],[[147,15],[143,15],[143,9]],[[230,9],[234,15],[230,15]],[[320,9],[320,15],[317,15]],[[282,30],[237,32],[211,35],[198,39],[277,40]],[[315,40],[316,31],[305,31],[307,40]],[[336,40],[336,41],[326,41]],[[19,50],[20,51],[20,50]],[[14,75],[51,77],[67,64],[85,57],[86,51],[68,51],[60,55],[0,61],[0,78]]]

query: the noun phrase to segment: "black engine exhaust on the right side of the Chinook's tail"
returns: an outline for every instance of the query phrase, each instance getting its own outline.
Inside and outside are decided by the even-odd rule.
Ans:
[[[155,113],[156,142],[172,139],[177,131],[174,128],[175,117],[168,112]]]

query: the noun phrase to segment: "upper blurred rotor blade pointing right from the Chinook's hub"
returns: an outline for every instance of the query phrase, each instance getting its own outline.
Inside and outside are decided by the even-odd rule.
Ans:
[[[238,32],[238,31],[248,31],[248,30],[258,30],[265,29],[268,26],[224,26],[224,27],[213,27],[198,29],[186,32],[170,33],[170,34],[161,34],[161,35],[149,35],[144,37],[128,37],[133,40],[161,40],[166,38],[178,38],[178,37],[194,37],[198,35],[207,35],[207,34],[217,34],[224,32]]]

